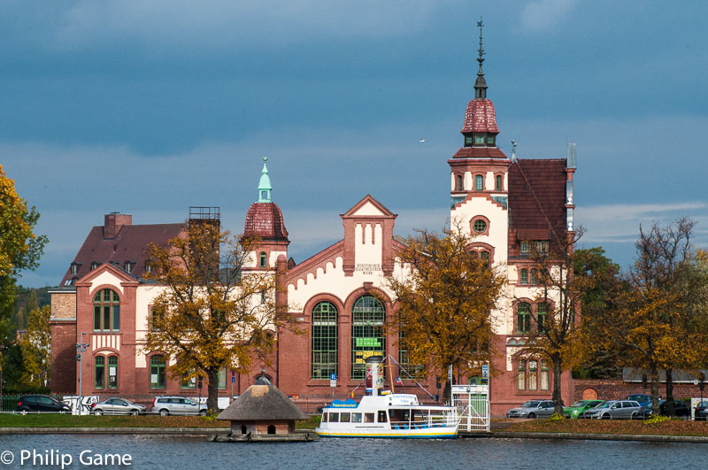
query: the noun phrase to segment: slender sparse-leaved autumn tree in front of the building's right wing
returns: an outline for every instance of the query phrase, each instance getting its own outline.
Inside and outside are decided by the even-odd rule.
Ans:
[[[573,251],[582,234],[580,227],[575,232],[554,236],[549,243],[528,242],[539,289],[535,312],[521,313],[530,320],[522,351],[550,362],[552,397],[558,413],[563,412],[561,374],[564,369],[578,365],[584,351],[579,327],[581,298],[592,280],[586,275],[575,275]],[[539,309],[539,305],[543,307]]]

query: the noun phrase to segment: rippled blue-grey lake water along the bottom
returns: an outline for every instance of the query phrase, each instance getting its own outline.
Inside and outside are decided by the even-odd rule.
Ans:
[[[32,452],[35,452],[34,455]],[[81,457],[81,452],[83,457]],[[126,465],[96,465],[128,454]],[[322,439],[316,443],[208,443],[145,435],[2,435],[2,468],[705,468],[708,444],[471,438]],[[12,458],[12,462],[10,461]],[[52,462],[53,459],[53,462]],[[83,462],[81,462],[83,460]],[[90,463],[89,463],[90,462]],[[3,465],[4,464],[4,465]],[[129,464],[129,465],[127,465]]]

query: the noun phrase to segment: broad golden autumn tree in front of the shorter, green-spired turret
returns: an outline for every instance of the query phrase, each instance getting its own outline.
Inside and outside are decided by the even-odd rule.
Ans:
[[[173,376],[206,377],[217,409],[219,371],[247,372],[267,358],[279,327],[294,328],[276,303],[276,275],[248,271],[257,238],[238,240],[212,220],[191,221],[166,246],[150,245],[150,277],[164,286],[152,304],[143,351],[173,359]]]

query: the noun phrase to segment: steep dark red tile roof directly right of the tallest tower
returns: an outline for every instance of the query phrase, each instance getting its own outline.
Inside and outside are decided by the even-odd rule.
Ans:
[[[566,231],[566,160],[519,159],[509,166],[509,228],[520,235]],[[526,238],[520,238],[526,239]]]

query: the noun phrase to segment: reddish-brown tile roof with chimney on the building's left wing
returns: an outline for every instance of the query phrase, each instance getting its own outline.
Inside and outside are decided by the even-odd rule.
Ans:
[[[130,274],[139,278],[145,273],[145,261],[150,258],[148,244],[165,244],[179,235],[183,227],[183,224],[124,225],[114,239],[104,239],[104,227],[93,227],[73,258],[73,263],[80,264],[78,272],[71,274],[70,266],[59,286],[89,274],[94,262],[114,262],[121,269],[125,268],[126,261],[135,262]]]

